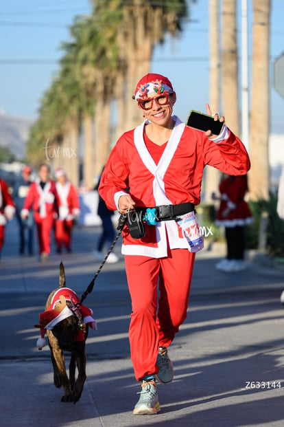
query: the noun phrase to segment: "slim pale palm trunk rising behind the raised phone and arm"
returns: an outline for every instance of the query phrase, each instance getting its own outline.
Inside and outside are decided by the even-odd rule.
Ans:
[[[209,104],[211,111],[220,111],[220,57],[219,57],[219,0],[209,0],[209,48],[210,48],[210,74],[209,74]],[[204,175],[204,202],[213,204],[213,192],[217,191],[220,181],[220,171],[211,166],[206,166]]]

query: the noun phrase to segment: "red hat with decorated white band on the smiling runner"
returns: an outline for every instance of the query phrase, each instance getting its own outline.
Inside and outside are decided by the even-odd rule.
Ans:
[[[144,99],[147,98],[147,95],[151,94],[152,92],[156,92],[157,94],[161,95],[165,91],[167,91],[169,94],[174,92],[173,85],[171,85],[169,79],[165,76],[162,76],[162,74],[149,73],[143,76],[137,83],[134,98],[136,100]]]

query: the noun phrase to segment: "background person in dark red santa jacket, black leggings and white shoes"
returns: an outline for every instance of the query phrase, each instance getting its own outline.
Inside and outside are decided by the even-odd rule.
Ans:
[[[240,272],[246,269],[244,228],[253,222],[248,204],[244,200],[248,191],[247,175],[226,177],[222,180],[219,190],[221,203],[215,223],[225,228],[227,256],[216,264],[216,268],[225,272]],[[215,193],[212,198],[219,199]]]

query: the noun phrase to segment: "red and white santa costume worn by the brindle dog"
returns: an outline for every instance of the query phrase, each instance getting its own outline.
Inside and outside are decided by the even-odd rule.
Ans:
[[[74,315],[73,311],[67,306],[67,301],[73,303],[74,305],[80,303],[78,295],[75,294],[72,289],[69,287],[62,287],[58,289],[58,291],[56,291],[52,297],[51,304],[49,305],[48,309],[43,311],[43,313],[40,313],[39,325],[34,325],[35,327],[40,328],[41,338],[38,338],[38,341],[36,342],[38,349],[41,350],[46,345],[45,332],[47,329],[52,331],[55,325],[57,325],[59,322]],[[88,324],[88,326],[92,329],[97,329],[97,322],[92,317],[93,310],[89,309],[85,305],[80,305],[80,311],[84,324]],[[80,331],[78,336],[75,338],[75,341],[82,340],[84,340],[84,332]]]

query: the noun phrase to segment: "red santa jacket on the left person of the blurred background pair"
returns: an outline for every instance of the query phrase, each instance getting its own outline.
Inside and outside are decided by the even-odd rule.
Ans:
[[[36,217],[45,218],[58,213],[58,194],[54,181],[45,184],[44,189],[40,187],[39,179],[32,182],[23,204],[23,214],[34,210]]]

